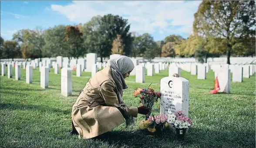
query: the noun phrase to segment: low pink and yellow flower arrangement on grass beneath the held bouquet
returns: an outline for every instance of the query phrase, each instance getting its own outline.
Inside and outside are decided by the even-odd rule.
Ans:
[[[163,132],[168,127],[168,117],[164,114],[149,116],[147,120],[143,119],[138,127],[148,129],[149,132]]]

